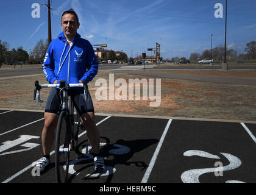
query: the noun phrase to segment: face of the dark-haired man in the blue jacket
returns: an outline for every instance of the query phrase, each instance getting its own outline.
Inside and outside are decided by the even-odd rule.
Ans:
[[[65,15],[63,15],[61,25],[66,37],[74,38],[76,36],[76,31],[79,28],[79,23],[77,23],[75,15],[71,13],[66,13]]]

